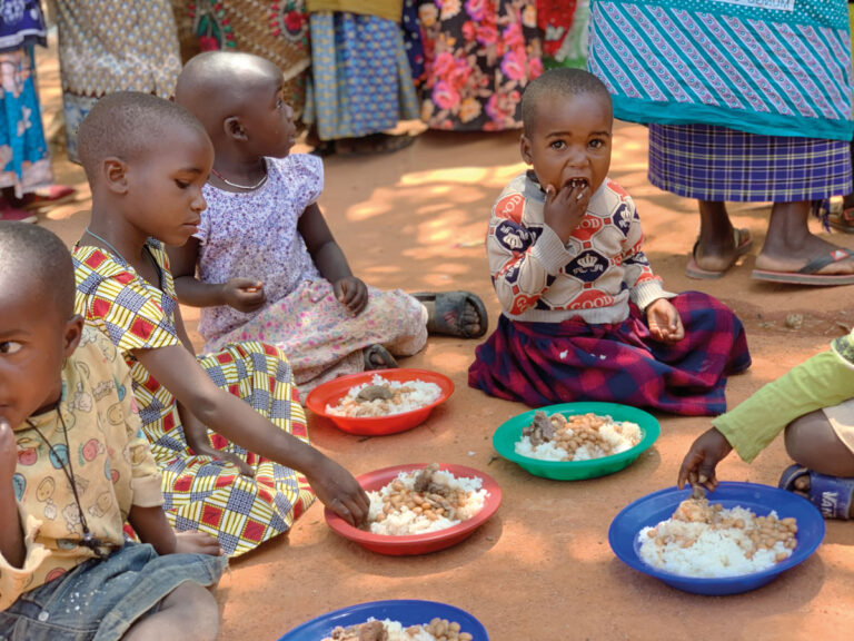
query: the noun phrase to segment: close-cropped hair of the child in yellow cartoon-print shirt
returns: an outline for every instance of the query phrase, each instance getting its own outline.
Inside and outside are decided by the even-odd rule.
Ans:
[[[0,289],[52,305],[62,320],[75,313],[75,266],[52,231],[27,223],[0,220]],[[37,306],[38,308],[39,306]]]

